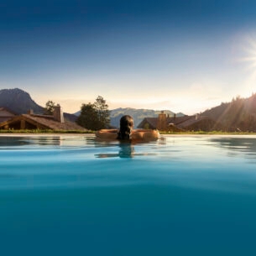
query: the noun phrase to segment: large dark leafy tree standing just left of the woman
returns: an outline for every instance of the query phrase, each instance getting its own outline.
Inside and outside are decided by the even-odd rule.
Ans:
[[[89,130],[108,128],[110,123],[110,112],[103,97],[98,96],[96,102],[82,104],[81,113],[76,123]]]

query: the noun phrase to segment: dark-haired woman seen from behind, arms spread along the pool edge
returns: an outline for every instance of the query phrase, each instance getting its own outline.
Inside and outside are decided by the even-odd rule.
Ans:
[[[130,141],[149,141],[159,138],[158,130],[135,129],[133,130],[133,118],[123,116],[120,119],[120,129],[102,129],[96,133],[97,138],[119,139]]]

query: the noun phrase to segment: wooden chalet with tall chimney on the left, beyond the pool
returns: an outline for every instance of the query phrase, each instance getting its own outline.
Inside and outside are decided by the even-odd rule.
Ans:
[[[51,130],[86,130],[80,125],[64,119],[60,106],[55,107],[54,115],[38,115],[33,111],[14,116],[2,123],[0,129],[51,129]]]

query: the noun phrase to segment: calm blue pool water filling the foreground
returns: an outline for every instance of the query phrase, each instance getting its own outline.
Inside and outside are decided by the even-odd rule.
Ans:
[[[256,137],[0,137],[1,255],[255,255]]]

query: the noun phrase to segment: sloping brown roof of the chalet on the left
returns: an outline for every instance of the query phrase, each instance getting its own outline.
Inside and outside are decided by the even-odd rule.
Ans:
[[[52,130],[86,130],[82,128],[80,125],[76,123],[72,123],[70,121],[65,120],[64,123],[60,123],[53,119],[52,116],[44,116],[44,115],[30,115],[30,114],[22,114],[15,118],[12,118],[8,121],[0,123],[0,128],[6,125],[10,125],[11,123],[17,123],[24,120],[25,122],[32,123],[36,127],[43,129],[52,129]]]

